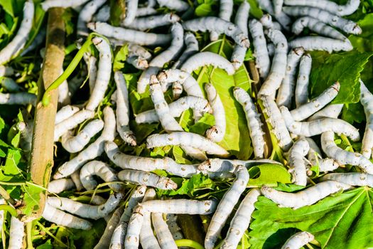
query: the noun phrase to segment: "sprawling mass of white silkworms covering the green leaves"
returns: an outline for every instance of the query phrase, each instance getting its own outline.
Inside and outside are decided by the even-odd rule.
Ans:
[[[92,43],[99,56],[96,58],[88,52],[84,56],[90,85],[90,98],[85,105],[70,105],[71,92],[67,82],[59,87],[61,107],[55,118],[54,139],[61,142],[63,148],[73,156],[70,161],[58,166],[53,174],[53,181],[48,186],[50,196],[43,212],[45,220],[69,228],[90,229],[92,223],[89,219],[105,218],[107,228],[95,248],[129,249],[139,248],[141,244],[142,248],[169,249],[177,248],[175,239],[183,238],[175,223],[177,214],[210,214],[205,248],[214,248],[220,236],[221,248],[237,248],[242,235],[249,228],[254,203],[261,195],[281,207],[301,208],[338,191],[352,189],[353,186],[373,186],[373,164],[369,161],[373,147],[372,93],[360,80],[361,103],[367,116],[361,154],[347,152],[334,141],[335,134],[343,134],[352,141],[361,139],[357,128],[338,118],[343,105],[330,104],[337,96],[340,84],[335,82],[318,97],[308,97],[312,64],[308,51],[332,53],[352,50],[345,34],[360,34],[362,30],[357,23],[342,16],[354,13],[359,7],[359,0],[349,0],[343,6],[328,0],[260,0],[259,7],[265,14],[259,20],[249,16],[250,5],[247,1],[243,1],[234,11],[232,0],[220,0],[218,16],[199,18],[193,17],[194,9],[187,1],[125,2],[126,15],[120,26],[108,23],[110,8],[105,0],[47,0],[41,3],[45,11],[55,6],[79,10],[78,36],[84,38],[94,31],[107,38],[94,36]],[[158,7],[171,12],[161,14],[157,11]],[[30,47],[23,50],[31,30],[33,12],[33,2],[26,1],[18,33],[0,51],[0,75],[4,76],[1,85],[9,91],[0,93],[0,103],[3,105],[36,103],[35,95],[21,92],[22,89],[9,78],[13,70],[4,65],[19,52],[26,54],[43,41],[45,33],[40,32],[38,36],[41,38],[37,37]],[[169,26],[169,33],[152,33],[153,28],[160,26]],[[304,28],[318,36],[302,36]],[[208,32],[211,41],[216,41],[222,35],[227,36],[235,44],[230,60],[216,53],[200,52],[196,32]],[[291,34],[288,35],[292,37],[291,41],[285,34]],[[170,157],[136,157],[119,149],[118,141],[132,147],[138,144],[136,134],[129,127],[132,116],[126,80],[120,70],[112,70],[112,48],[123,45],[128,46],[126,63],[141,70],[137,92],[150,92],[154,104],[153,110],[136,115],[136,123],[159,122],[164,130],[161,134],[148,136],[146,147],[177,145],[200,164],[178,164]],[[153,57],[148,48],[155,46],[161,46],[163,50]],[[213,84],[207,83],[206,99],[192,73],[198,68],[212,65],[232,75],[242,67],[250,47],[261,78],[261,88],[255,99],[254,94],[250,95],[242,88],[231,89],[246,114],[254,149],[253,160],[240,161],[232,159],[227,149],[217,144],[224,139],[226,122],[229,122],[225,117],[228,110],[225,110],[220,99],[221,92],[217,92]],[[104,100],[110,80],[114,80],[116,85],[112,95],[115,108],[113,110],[109,105],[103,107],[102,120],[97,116],[97,108]],[[166,102],[164,96],[168,88],[172,88],[172,102]],[[263,113],[259,102],[264,107]],[[188,109],[193,110],[195,122],[207,112],[215,117],[215,124],[206,130],[205,137],[185,131],[176,120]],[[263,131],[264,115],[279,147],[287,152],[286,166],[293,184],[307,186],[312,174],[311,166],[317,165],[323,176],[314,179],[317,184],[310,184],[313,186],[295,194],[268,186],[254,188],[239,203],[250,178],[247,167],[252,163],[278,163],[264,158],[267,146]],[[85,125],[77,132],[77,127],[83,122]],[[32,120],[19,125],[18,129],[22,132],[23,149],[29,151]],[[323,153],[311,138],[317,135],[321,135]],[[106,154],[109,161],[97,161],[102,154]],[[328,173],[345,164],[357,166],[361,172]],[[171,178],[152,172],[158,169],[184,178],[207,174],[212,179],[235,179],[220,201],[157,199],[155,189],[178,188]],[[98,182],[94,176],[109,184],[112,189],[109,198],[94,196],[87,204],[55,196],[68,189],[95,189]],[[126,205],[122,204],[126,196],[122,183],[137,185],[126,198]],[[234,206],[238,203],[239,207],[234,212]],[[167,222],[163,213],[168,215]],[[232,216],[232,221],[228,232],[222,234],[229,216]],[[12,248],[21,248],[22,225],[16,218],[11,219],[9,243],[13,245]],[[312,240],[313,235],[306,231],[296,233],[283,248],[301,248]]]

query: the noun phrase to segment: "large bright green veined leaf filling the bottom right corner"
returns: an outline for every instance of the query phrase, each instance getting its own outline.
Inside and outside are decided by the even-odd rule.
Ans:
[[[262,196],[255,203],[249,233],[251,248],[279,248],[297,231],[315,235],[321,248],[373,246],[372,189],[360,187],[329,196],[313,206],[279,208]]]

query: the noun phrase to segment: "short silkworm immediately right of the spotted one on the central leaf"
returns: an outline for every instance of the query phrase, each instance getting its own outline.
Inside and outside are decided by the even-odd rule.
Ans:
[[[279,140],[279,146],[283,151],[287,152],[290,149],[293,140],[290,137],[286,122],[283,119],[279,107],[271,97],[263,97],[264,112],[269,117],[269,123],[273,128],[276,138]]]

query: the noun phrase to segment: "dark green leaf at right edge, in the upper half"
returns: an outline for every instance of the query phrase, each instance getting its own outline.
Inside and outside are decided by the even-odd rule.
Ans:
[[[368,62],[372,52],[345,53],[315,52],[310,74],[310,97],[320,95],[326,88],[338,81],[340,92],[333,100],[334,104],[356,103],[360,100],[360,73]]]

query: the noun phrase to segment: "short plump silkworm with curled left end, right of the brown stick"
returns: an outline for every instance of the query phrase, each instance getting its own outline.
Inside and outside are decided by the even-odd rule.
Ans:
[[[102,120],[92,120],[75,137],[71,136],[70,132],[66,132],[61,139],[63,148],[70,153],[80,152],[103,127]]]

